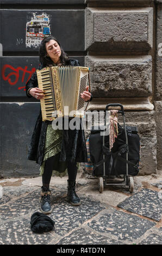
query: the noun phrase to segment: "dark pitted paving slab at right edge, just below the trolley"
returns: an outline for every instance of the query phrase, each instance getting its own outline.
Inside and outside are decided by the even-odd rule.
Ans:
[[[161,220],[161,199],[157,191],[143,189],[117,206],[154,221]]]

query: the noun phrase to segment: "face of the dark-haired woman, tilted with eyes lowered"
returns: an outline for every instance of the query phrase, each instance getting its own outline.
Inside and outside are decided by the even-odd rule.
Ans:
[[[51,39],[49,42],[46,42],[46,52],[53,62],[56,64],[61,56],[61,49],[57,41]]]

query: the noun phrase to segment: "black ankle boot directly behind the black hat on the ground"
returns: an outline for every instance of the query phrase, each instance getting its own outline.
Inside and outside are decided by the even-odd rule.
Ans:
[[[41,212],[43,214],[51,214],[52,209],[51,209],[51,201],[50,201],[50,196],[51,196],[51,191],[49,190],[48,187],[41,187],[42,192],[41,192]]]

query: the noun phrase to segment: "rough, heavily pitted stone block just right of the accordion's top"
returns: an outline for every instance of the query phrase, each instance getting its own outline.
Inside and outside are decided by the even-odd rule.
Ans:
[[[86,56],[94,97],[152,95],[151,56]]]

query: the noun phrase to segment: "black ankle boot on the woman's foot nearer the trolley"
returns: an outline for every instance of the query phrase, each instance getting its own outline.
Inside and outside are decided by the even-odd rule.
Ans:
[[[76,194],[75,187],[76,181],[75,180],[67,180],[67,200],[70,202],[71,205],[77,206],[80,205],[80,199]]]

